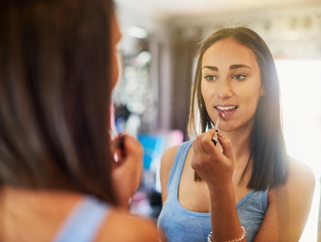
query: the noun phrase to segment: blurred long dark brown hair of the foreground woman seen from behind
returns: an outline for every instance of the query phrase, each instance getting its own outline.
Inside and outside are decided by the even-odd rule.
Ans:
[[[0,4],[0,183],[116,203],[106,0]]]

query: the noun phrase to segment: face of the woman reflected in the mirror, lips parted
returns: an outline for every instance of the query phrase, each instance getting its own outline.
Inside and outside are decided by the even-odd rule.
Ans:
[[[254,53],[233,39],[211,45],[202,59],[201,90],[213,122],[230,132],[252,128],[258,100],[264,95]]]

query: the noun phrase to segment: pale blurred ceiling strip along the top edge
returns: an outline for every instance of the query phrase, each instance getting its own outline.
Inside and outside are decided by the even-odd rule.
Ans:
[[[117,6],[156,20],[202,14],[279,9],[320,4],[320,0],[115,0]]]

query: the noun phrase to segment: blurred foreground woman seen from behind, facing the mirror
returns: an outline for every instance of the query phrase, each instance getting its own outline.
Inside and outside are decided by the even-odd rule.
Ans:
[[[108,0],[1,1],[1,241],[159,241],[127,209],[141,144],[109,135],[120,38]]]

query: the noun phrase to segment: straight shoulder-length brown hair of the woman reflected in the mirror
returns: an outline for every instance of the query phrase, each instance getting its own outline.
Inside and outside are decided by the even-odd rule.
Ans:
[[[209,34],[201,43],[198,50],[197,66],[192,87],[188,133],[196,135],[196,111],[200,115],[200,132],[213,128],[202,92],[202,58],[204,52],[215,42],[231,38],[247,47],[255,54],[260,68],[260,81],[265,90],[255,112],[253,131],[250,135],[250,159],[253,159],[252,173],[248,188],[265,190],[283,184],[289,173],[288,156],[280,120],[280,93],[277,72],[272,54],[260,36],[248,27],[223,28]],[[249,159],[249,161],[250,161]],[[246,166],[240,182],[250,169]]]

